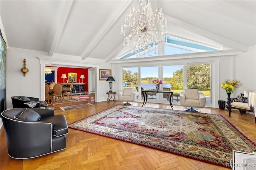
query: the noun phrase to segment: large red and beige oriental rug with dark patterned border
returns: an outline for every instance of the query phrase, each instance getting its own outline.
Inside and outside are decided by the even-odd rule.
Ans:
[[[222,115],[117,105],[68,127],[224,167],[232,150],[256,151],[256,143]]]

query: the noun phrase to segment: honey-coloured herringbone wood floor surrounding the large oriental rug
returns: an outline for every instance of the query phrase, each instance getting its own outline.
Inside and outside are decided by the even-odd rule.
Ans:
[[[67,100],[67,99],[66,99]],[[60,107],[92,103],[94,106],[69,111],[62,111]],[[141,106],[140,102],[131,102],[134,106]],[[55,104],[55,114],[64,114],[68,124],[88,117],[114,105],[122,104],[121,101],[114,103],[81,101],[65,101]],[[146,107],[171,109],[168,104],[147,103]],[[183,110],[184,107],[174,105],[175,110]],[[218,108],[202,108],[202,113],[224,115],[234,125],[240,128],[247,136],[256,142],[256,124],[254,115],[244,114],[233,110],[228,117],[226,110]],[[4,127],[0,130],[0,169],[1,170],[228,170],[193,160],[183,156],[170,154],[160,150],[139,146],[136,144],[115,140],[69,129],[67,134],[66,149],[40,156],[33,159],[16,160],[8,156]]]

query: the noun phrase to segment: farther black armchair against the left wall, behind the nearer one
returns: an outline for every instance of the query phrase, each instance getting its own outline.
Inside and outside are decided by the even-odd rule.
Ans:
[[[25,97],[25,96],[12,96],[12,107],[13,108],[28,108],[29,106],[24,104],[28,102],[39,101],[38,104],[34,108],[40,107],[48,107],[46,101],[40,101],[38,98],[35,97]]]

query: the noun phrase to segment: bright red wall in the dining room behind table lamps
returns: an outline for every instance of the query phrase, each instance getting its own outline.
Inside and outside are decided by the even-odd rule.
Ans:
[[[81,74],[84,75],[85,79],[83,79],[84,91],[88,91],[88,69],[80,69],[80,68],[70,68],[70,67],[59,67],[57,71],[57,82],[63,83],[63,79],[60,78],[62,74],[66,74],[68,78],[68,73],[77,73],[77,82],[82,83],[82,79],[80,79]],[[65,79],[65,83],[67,83],[67,79]]]

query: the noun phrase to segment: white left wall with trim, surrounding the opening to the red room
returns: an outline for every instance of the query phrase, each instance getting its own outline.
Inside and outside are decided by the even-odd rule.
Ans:
[[[26,67],[29,72],[26,76],[20,69],[23,67],[23,59],[26,59]],[[106,91],[109,90],[108,82],[99,81],[98,69],[111,69],[111,64],[105,64],[103,60],[86,58],[80,60],[77,56],[55,55],[49,57],[40,51],[23,49],[7,49],[6,57],[6,99],[7,109],[12,108],[12,96],[28,96],[44,99],[44,65],[45,63],[67,66],[95,67],[96,68],[96,97],[95,101],[106,101]]]

